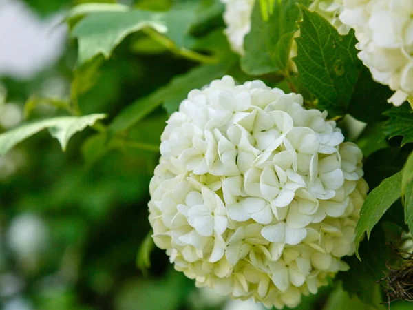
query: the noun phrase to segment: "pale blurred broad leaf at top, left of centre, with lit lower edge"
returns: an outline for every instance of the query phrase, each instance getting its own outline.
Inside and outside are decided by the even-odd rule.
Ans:
[[[72,34],[78,39],[78,63],[82,64],[98,54],[105,58],[127,35],[152,28],[182,48],[193,21],[195,6],[176,6],[169,12],[131,10],[129,12],[96,12],[82,19]]]

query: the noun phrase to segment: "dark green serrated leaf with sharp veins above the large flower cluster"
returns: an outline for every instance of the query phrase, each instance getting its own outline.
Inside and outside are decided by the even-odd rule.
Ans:
[[[301,6],[303,21],[299,23],[297,41],[298,79],[318,98],[319,109],[330,116],[346,114],[361,62],[357,59],[354,31],[340,36],[318,13]]]

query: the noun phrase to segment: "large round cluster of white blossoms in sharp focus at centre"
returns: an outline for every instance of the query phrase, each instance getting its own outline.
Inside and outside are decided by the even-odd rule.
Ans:
[[[302,96],[231,76],[167,121],[150,184],[153,240],[223,295],[296,307],[354,254],[362,154]]]

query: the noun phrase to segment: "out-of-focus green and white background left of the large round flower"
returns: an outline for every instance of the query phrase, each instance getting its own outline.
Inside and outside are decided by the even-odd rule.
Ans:
[[[138,33],[111,59],[97,60],[79,74],[76,41],[67,38],[60,21],[81,2],[86,1],[0,1],[0,132],[65,114],[62,100],[74,83],[81,89],[77,100],[83,114],[110,117],[195,66]],[[151,10],[165,10],[170,2],[120,1]],[[202,2],[212,9],[195,32],[220,32],[222,5]],[[105,152],[99,148],[105,136],[89,129],[76,134],[65,153],[41,132],[0,157],[1,309],[263,309],[196,289],[173,271],[164,251],[142,255],[151,245],[148,186],[166,119],[159,108],[127,132],[138,143]],[[297,309],[350,307],[361,309],[336,285],[304,298]]]

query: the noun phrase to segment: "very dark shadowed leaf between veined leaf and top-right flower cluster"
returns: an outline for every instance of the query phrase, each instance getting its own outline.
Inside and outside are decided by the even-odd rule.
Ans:
[[[382,114],[392,107],[387,102],[392,93],[387,85],[375,82],[370,70],[363,66],[348,105],[348,113],[365,123],[384,121]]]

